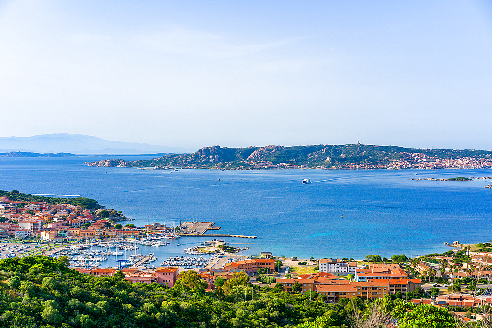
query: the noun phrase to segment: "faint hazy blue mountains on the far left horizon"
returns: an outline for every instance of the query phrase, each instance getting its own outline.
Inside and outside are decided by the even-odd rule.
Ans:
[[[72,153],[72,154],[156,154],[191,153],[196,149],[109,141],[81,134],[55,133],[32,137],[0,137],[0,153]]]

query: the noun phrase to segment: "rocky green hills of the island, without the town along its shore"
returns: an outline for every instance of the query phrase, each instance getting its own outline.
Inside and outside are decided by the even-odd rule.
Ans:
[[[265,161],[272,165],[306,165],[310,168],[332,168],[345,164],[385,165],[404,158],[402,153],[422,153],[434,158],[475,157],[492,158],[491,151],[418,149],[377,145],[310,145],[310,146],[265,146],[246,148],[204,147],[192,154],[168,154],[151,160],[125,161],[121,159],[87,162],[89,166],[119,167],[184,167],[184,168],[252,168],[251,161]]]

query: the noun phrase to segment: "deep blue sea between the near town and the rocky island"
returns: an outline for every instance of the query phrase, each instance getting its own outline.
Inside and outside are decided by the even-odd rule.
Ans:
[[[136,158],[146,157],[129,159]],[[410,180],[491,176],[489,169],[170,172],[83,164],[100,159],[105,157],[2,158],[0,189],[94,198],[122,210],[138,226],[192,219],[215,222],[219,233],[258,236],[224,238],[254,242],[244,255],[270,251],[298,258],[415,256],[449,250],[443,242],[492,238],[492,190],[484,188],[487,182]],[[313,183],[303,185],[305,177]],[[179,242],[208,239],[183,237]],[[160,261],[184,255],[176,242],[159,250]]]

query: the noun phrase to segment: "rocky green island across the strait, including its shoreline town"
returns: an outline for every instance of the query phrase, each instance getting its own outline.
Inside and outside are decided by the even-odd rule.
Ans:
[[[149,160],[106,159],[86,162],[96,167],[254,169],[443,169],[492,167],[485,150],[418,149],[398,146],[310,145],[204,147],[191,154],[166,154]]]

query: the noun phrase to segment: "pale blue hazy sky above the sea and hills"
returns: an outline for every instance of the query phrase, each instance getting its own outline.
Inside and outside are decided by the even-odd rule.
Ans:
[[[0,136],[492,149],[490,1],[0,0]]]

